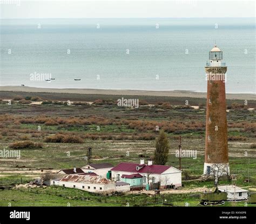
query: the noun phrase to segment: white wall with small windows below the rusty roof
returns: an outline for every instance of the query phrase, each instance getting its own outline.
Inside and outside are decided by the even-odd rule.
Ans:
[[[54,183],[53,183],[54,182]],[[76,188],[81,189],[88,192],[104,192],[104,191],[116,191],[116,184],[108,184],[108,185],[100,185],[100,184],[84,184],[80,182],[68,182],[68,181],[58,181],[58,180],[51,180],[50,185],[57,185],[69,187],[69,188]],[[76,187],[73,187],[75,185]],[[83,188],[84,186],[84,188]],[[90,187],[90,189],[88,189]],[[96,189],[94,189],[96,187]],[[102,189],[100,189],[102,187]]]

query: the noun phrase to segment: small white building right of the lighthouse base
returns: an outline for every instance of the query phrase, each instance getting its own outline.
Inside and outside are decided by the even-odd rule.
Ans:
[[[227,192],[227,200],[233,201],[235,200],[247,200],[248,198],[248,191],[242,189],[240,187],[236,187],[233,185],[225,185],[225,186],[218,186],[219,191]],[[234,194],[235,191],[235,194]]]

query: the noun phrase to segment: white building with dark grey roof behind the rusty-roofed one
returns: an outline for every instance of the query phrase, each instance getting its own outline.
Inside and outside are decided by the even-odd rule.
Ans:
[[[86,166],[81,167],[84,173],[93,172],[97,175],[106,178],[107,173],[112,169],[114,166],[105,162],[104,164],[88,164]]]

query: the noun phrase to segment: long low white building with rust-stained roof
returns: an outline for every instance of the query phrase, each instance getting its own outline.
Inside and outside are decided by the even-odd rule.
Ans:
[[[50,181],[50,185],[81,189],[88,192],[114,192],[116,183],[95,175],[65,175],[60,179]]]

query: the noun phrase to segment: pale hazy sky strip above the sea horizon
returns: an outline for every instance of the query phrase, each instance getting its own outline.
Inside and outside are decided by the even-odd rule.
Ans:
[[[246,0],[0,0],[0,3],[1,18],[255,17],[255,1]]]

